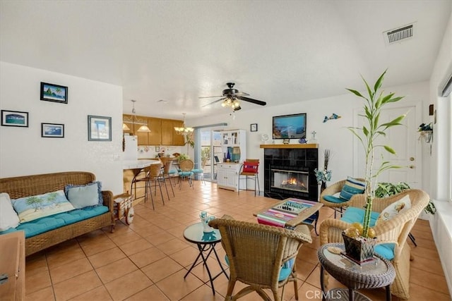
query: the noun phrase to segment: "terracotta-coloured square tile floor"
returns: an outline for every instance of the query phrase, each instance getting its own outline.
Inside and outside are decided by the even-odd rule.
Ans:
[[[25,291],[27,300],[224,300],[227,278],[214,281],[213,295],[206,270],[200,264],[184,280],[184,274],[198,254],[196,245],[184,240],[184,228],[197,223],[200,211],[235,219],[256,221],[253,213],[269,207],[273,199],[254,197],[254,192],[231,192],[195,181],[194,189],[182,183],[174,188],[175,197],[165,206],[157,196],[155,210],[150,202],[136,205],[130,226],[117,221],[116,231],[93,231],[63,242],[26,259]],[[171,192],[170,192],[171,193]],[[321,209],[321,219],[333,211]],[[410,301],[451,300],[439,255],[427,221],[418,220],[412,230],[417,247],[412,246]],[[303,245],[297,257],[299,300],[321,299],[319,239]],[[224,252],[217,245],[220,258]],[[220,267],[208,259],[213,273]],[[330,287],[343,286],[334,279]],[[236,285],[236,290],[242,288]],[[365,290],[372,300],[384,300],[383,289]],[[292,283],[285,290],[285,300],[295,300]],[[261,300],[256,293],[242,300]],[[393,297],[393,300],[398,300]]]

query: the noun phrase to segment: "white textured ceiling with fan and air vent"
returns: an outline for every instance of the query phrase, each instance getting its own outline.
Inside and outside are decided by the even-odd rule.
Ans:
[[[139,115],[196,118],[224,113],[198,97],[230,81],[275,106],[345,94],[386,68],[386,86],[428,80],[451,11],[449,0],[2,0],[0,59],[121,85],[124,113],[136,99]],[[385,44],[384,31],[414,22],[412,39]]]

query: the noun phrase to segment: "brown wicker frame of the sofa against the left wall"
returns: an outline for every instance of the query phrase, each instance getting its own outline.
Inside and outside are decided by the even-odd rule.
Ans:
[[[64,187],[69,184],[86,185],[94,180],[95,175],[93,173],[83,171],[0,178],[0,192],[8,193],[11,199],[18,199],[20,197],[64,190]],[[104,206],[108,207],[108,211],[25,238],[25,256],[105,226],[110,226],[111,231],[114,231],[113,194],[111,191],[102,191],[102,197]]]

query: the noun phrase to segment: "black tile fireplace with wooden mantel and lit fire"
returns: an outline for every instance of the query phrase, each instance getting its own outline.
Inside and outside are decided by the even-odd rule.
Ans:
[[[261,145],[261,148],[266,197],[318,200],[319,186],[314,175],[319,165],[318,145]]]

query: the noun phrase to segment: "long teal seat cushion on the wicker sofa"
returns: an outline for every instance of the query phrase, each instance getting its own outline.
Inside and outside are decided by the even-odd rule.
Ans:
[[[86,207],[82,209],[76,209],[67,211],[52,216],[45,216],[41,219],[35,219],[34,221],[28,221],[27,223],[20,223],[16,228],[10,228],[7,231],[0,232],[1,234],[11,233],[14,231],[24,231],[25,238],[31,238],[32,236],[45,233],[47,231],[54,230],[63,226],[70,225],[71,223],[77,223],[85,219],[90,219],[94,216],[104,214],[108,212],[107,206]]]

